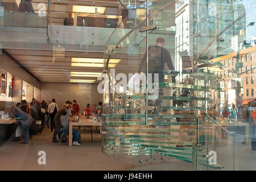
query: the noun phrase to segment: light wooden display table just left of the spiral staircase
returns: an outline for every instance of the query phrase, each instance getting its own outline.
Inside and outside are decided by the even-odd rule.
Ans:
[[[92,141],[93,141],[93,135],[92,135],[92,126],[100,126],[102,130],[102,123],[101,122],[93,122],[93,116],[90,116],[89,119],[86,119],[84,115],[81,115],[79,118],[79,122],[69,122],[69,135],[68,135],[68,145],[72,146],[72,130],[73,126],[90,126],[90,133],[92,136]]]

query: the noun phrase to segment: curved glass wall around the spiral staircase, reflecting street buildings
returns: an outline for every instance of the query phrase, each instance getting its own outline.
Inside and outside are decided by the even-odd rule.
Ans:
[[[100,85],[102,151],[164,169],[238,170],[247,150],[250,169],[255,3],[119,2],[125,18]]]

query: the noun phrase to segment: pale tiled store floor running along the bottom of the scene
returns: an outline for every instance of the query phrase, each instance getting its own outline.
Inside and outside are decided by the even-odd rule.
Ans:
[[[0,170],[191,170],[195,169],[191,163],[171,159],[162,164],[129,164],[121,160],[110,158],[101,151],[101,134],[93,133],[90,142],[90,129],[84,132],[81,127],[81,146],[68,146],[52,143],[52,132],[44,129],[42,134],[35,135],[29,144],[7,142],[0,147]],[[242,141],[243,139],[241,139]],[[235,146],[235,169],[256,170],[256,151],[251,151],[250,144],[238,141]],[[233,145],[215,147],[217,163],[224,164],[226,170],[233,169]],[[46,152],[46,165],[38,164],[38,152]],[[118,156],[118,159],[125,156]],[[145,158],[146,159],[146,158]],[[207,169],[200,166],[199,169]],[[210,169],[210,168],[209,168]]]

